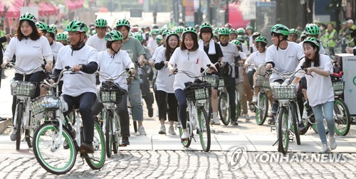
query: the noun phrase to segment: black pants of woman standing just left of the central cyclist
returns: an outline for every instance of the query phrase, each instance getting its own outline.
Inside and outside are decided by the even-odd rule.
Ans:
[[[159,119],[167,120],[167,104],[168,104],[168,120],[178,121],[177,107],[178,101],[174,93],[167,93],[164,91],[156,91],[156,101],[158,106]]]

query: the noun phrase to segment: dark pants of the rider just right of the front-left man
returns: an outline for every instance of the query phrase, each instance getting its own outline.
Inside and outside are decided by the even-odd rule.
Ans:
[[[103,103],[96,100],[95,104],[92,107],[93,115],[98,115],[103,108],[104,108]],[[117,115],[119,115],[120,117],[121,136],[129,137],[130,116],[129,116],[129,112],[127,112],[127,92],[124,95],[122,95],[121,102],[117,104],[116,112]]]

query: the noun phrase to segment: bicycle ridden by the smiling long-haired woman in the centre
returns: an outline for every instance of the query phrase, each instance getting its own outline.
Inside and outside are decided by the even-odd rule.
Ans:
[[[210,65],[208,65],[208,67],[210,67]],[[206,72],[206,70],[204,70],[204,72]],[[199,77],[204,74],[204,72],[202,72],[201,75],[196,76],[192,72],[175,69],[174,74],[177,74],[177,72],[183,72],[188,77],[194,78],[194,82],[197,82]],[[210,119],[208,118],[208,114],[206,113],[205,108],[206,102],[211,99],[211,85],[208,82],[201,84],[202,85],[198,85],[197,87],[186,87],[184,89],[187,94],[187,130],[189,138],[182,139],[182,145],[188,148],[192,143],[192,139],[194,139],[193,131],[197,130],[201,148],[203,151],[208,152],[211,146],[211,134],[209,126]],[[179,129],[179,136],[182,136],[183,128],[181,126],[180,119],[179,123],[177,124],[177,128]]]

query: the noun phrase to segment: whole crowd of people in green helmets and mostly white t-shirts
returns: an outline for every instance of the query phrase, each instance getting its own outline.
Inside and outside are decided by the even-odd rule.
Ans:
[[[346,24],[353,24],[351,21],[347,21]],[[347,28],[352,28],[354,25],[348,26]],[[146,135],[143,126],[142,98],[145,99],[148,115],[152,117],[153,95],[150,88],[142,86],[147,87],[149,80],[151,83],[152,80],[155,81],[152,86],[155,87],[157,119],[161,124],[159,129],[157,128],[158,133],[166,134],[165,121],[168,119],[168,134],[176,135],[174,122],[180,121],[183,129],[180,137],[182,140],[188,139],[187,95],[184,88],[185,83],[193,82],[194,79],[182,73],[174,75],[174,70],[179,68],[198,76],[201,68],[206,69],[208,66],[211,66],[207,70],[209,75],[224,77],[230,99],[231,125],[239,125],[239,114],[235,114],[236,98],[239,98],[241,103],[242,116],[246,121],[250,120],[248,108],[253,110],[259,91],[258,87],[253,85],[254,80],[256,75],[264,75],[258,67],[266,65],[266,70],[276,67],[286,72],[298,70],[300,66],[305,67],[305,74],[297,73],[295,80],[290,84],[296,85],[300,82],[303,88],[304,96],[300,99],[301,113],[304,102],[308,102],[311,107],[309,112],[313,111],[318,125],[323,152],[333,150],[337,146],[333,131],[335,121],[333,114],[330,114],[333,112],[334,99],[330,80],[333,65],[323,48],[326,45],[330,55],[334,55],[336,38],[333,24],[329,24],[327,29],[320,29],[316,24],[308,23],[303,32],[276,24],[271,28],[271,38],[253,31],[252,26],[234,29],[229,23],[224,27],[202,23],[197,27],[177,26],[169,29],[167,26],[162,28],[154,26],[150,29],[132,26],[130,21],[120,19],[113,30],[109,30],[108,22],[103,18],[95,20],[93,26],[74,20],[63,30],[63,33],[57,33],[56,25],[36,21],[31,13],[23,13],[19,18],[16,36],[11,38],[4,52],[1,67],[5,68],[7,63],[15,61],[15,65],[21,69],[31,70],[46,63],[45,71],[51,73],[53,77],[57,77],[66,66],[70,66],[73,72],[80,73],[63,76],[61,95],[68,104],[68,113],[73,107],[78,107],[80,111],[85,134],[83,143],[80,144],[82,151],[93,153],[93,121],[100,117],[98,114],[103,109],[103,104],[97,99],[97,85],[105,80],[101,77],[96,79],[97,70],[113,77],[126,68],[130,69],[130,76],[133,79],[130,80],[130,85],[127,85],[128,75],[115,80],[115,83],[125,91],[123,100],[117,104],[117,114],[120,116],[121,144],[127,146],[130,145],[130,116],[127,112],[126,96],[130,96],[133,106],[132,119],[138,123],[138,133]],[[320,37],[322,30],[324,34]],[[269,40],[273,43],[270,46]],[[139,70],[145,75],[140,75]],[[155,75],[153,71],[156,71]],[[48,77],[46,72],[38,70],[27,75],[26,80],[40,84]],[[20,72],[15,72],[14,80],[22,80],[22,77]],[[281,84],[283,80],[272,73],[269,82]],[[235,90],[239,97],[236,96]],[[37,85],[34,97],[39,95],[40,87]],[[271,91],[268,92],[268,97],[272,106],[271,113],[276,114],[278,101],[273,100]],[[213,125],[220,124],[218,105],[218,90],[213,88],[211,90]],[[16,96],[13,100],[13,115],[15,107]],[[330,148],[326,134],[322,132],[325,130],[324,116],[329,129]],[[273,115],[269,123],[275,123]],[[299,121],[298,127],[303,129],[305,126]],[[11,134],[12,141],[16,140],[16,130],[14,128]]]

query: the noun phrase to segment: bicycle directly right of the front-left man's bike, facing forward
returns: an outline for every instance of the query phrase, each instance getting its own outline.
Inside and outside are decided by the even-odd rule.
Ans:
[[[120,89],[117,89],[113,86],[113,82],[117,80],[117,78],[121,77],[125,72],[128,72],[129,69],[126,68],[125,71],[121,72],[119,75],[115,77],[108,77],[99,71],[97,71],[100,77],[103,77],[104,80],[108,81],[108,85],[102,85],[99,90],[99,99],[100,102],[103,103],[104,109],[102,110],[103,116],[103,126],[102,130],[105,131],[105,148],[106,148],[106,156],[108,158],[111,157],[112,151],[113,153],[117,153],[117,148],[120,146],[120,116],[118,116],[115,109],[117,108],[116,104],[119,104],[122,100],[122,92]],[[111,86],[111,87],[110,87]]]

